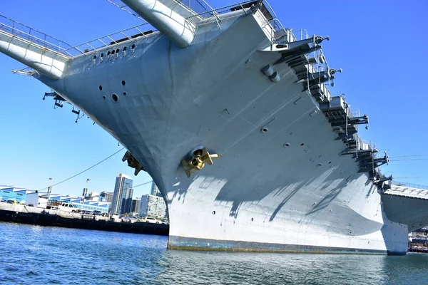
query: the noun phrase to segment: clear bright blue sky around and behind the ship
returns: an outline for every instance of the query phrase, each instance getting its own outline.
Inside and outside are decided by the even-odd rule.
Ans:
[[[214,7],[234,3],[208,2]],[[286,28],[331,37],[322,43],[327,61],[344,73],[330,90],[345,93],[352,109],[369,115],[370,129],[360,128],[360,136],[389,155],[428,154],[427,3],[270,1]],[[3,0],[0,14],[71,45],[141,23],[105,0]],[[41,100],[49,88],[11,73],[22,67],[0,54],[0,185],[39,190],[49,186],[49,177],[59,182],[121,148],[91,120],[74,123],[71,106],[54,110],[52,100]],[[87,178],[89,191],[113,191],[120,172],[133,177],[134,185],[151,181],[145,172],[133,176],[121,161],[123,152],[54,187],[54,192],[81,195]],[[428,160],[389,162],[382,170],[395,177],[417,177],[397,180],[428,185]],[[134,197],[149,191],[150,184],[138,187]]]

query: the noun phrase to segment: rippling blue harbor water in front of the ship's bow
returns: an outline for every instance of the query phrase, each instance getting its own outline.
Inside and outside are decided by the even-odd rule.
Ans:
[[[167,241],[0,222],[0,284],[428,284],[428,254],[187,252]]]

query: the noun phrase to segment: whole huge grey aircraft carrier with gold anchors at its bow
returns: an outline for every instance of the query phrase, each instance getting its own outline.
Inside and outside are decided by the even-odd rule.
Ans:
[[[168,248],[407,252],[407,224],[428,215],[404,224],[389,203],[389,219],[388,157],[357,135],[368,116],[327,88],[340,72],[329,38],[284,28],[267,1],[108,1],[148,24],[72,47],[3,17],[0,51],[153,177]]]

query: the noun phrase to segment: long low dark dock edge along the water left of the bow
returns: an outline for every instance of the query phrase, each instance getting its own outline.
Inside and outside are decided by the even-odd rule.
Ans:
[[[0,202],[0,221],[17,222],[21,224],[37,224],[51,227],[68,227],[76,229],[97,229],[108,232],[128,232],[134,234],[156,234],[167,236],[168,224],[150,222],[132,222],[131,219],[113,219],[65,212],[56,209],[30,207],[22,204]]]

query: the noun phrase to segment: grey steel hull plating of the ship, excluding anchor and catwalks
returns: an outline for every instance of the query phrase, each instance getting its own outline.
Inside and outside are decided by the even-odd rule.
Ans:
[[[156,34],[126,55],[88,53],[63,78],[39,79],[153,177],[171,249],[407,252],[407,226],[384,216],[377,186],[339,155],[344,143],[294,71],[275,66],[278,83],[260,72],[279,56],[262,51],[271,42],[257,15],[238,11],[216,25],[197,27],[185,49]],[[188,178],[180,161],[198,145],[222,157]]]

